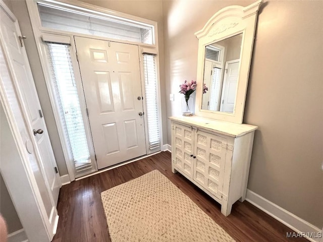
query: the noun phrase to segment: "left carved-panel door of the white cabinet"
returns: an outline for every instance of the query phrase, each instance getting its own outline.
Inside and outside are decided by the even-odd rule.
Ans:
[[[175,168],[193,177],[194,130],[174,123],[172,159]]]

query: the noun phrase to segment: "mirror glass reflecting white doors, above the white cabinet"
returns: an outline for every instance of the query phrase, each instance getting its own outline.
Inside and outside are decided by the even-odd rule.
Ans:
[[[242,34],[205,47],[202,109],[232,113],[237,94]]]

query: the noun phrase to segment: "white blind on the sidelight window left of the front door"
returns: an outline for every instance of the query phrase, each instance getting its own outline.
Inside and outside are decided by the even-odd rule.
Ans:
[[[47,42],[46,55],[65,140],[73,156],[75,168],[77,171],[91,168],[70,45]]]

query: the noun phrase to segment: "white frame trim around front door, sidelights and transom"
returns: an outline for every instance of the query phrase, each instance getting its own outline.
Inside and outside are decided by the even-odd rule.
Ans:
[[[99,37],[99,36],[93,36],[93,35],[88,35],[88,34],[79,34],[79,33],[74,33],[74,32],[69,32],[69,31],[61,31],[61,30],[55,30],[55,29],[49,29],[49,28],[44,28],[41,26],[41,21],[40,21],[40,17],[39,17],[39,12],[38,12],[38,8],[37,8],[37,2],[36,1],[26,1],[27,4],[27,8],[28,8],[28,12],[29,12],[29,16],[30,16],[30,21],[31,21],[31,25],[32,25],[32,29],[33,29],[33,33],[34,33],[34,37],[35,37],[35,41],[36,41],[36,46],[37,46],[37,50],[38,50],[38,54],[39,54],[39,58],[40,58],[40,63],[41,63],[41,67],[44,73],[44,77],[45,77],[45,82],[46,82],[46,87],[47,87],[47,92],[49,95],[49,99],[50,99],[50,103],[51,103],[51,107],[53,110],[53,114],[55,117],[55,121],[56,121],[56,125],[57,125],[57,129],[58,129],[58,133],[59,133],[59,137],[60,137],[60,141],[61,141],[61,145],[62,145],[62,149],[63,149],[63,154],[64,154],[64,158],[65,158],[65,162],[67,165],[67,169],[68,169],[68,173],[69,173],[69,177],[70,180],[73,181],[75,180],[75,174],[74,174],[74,164],[73,161],[69,158],[69,151],[68,151],[68,146],[67,143],[65,141],[64,138],[64,132],[63,132],[63,127],[60,124],[60,117],[59,117],[59,113],[58,113],[58,108],[56,107],[55,104],[55,96],[53,95],[53,90],[51,88],[51,84],[50,84],[50,78],[49,78],[49,73],[48,73],[48,68],[47,68],[47,60],[46,60],[46,56],[43,52],[43,48],[42,48],[42,35],[43,34],[51,34],[53,36],[65,36],[65,37],[69,37],[71,39],[73,39],[74,36],[79,36],[79,37],[86,37],[86,38],[92,38],[92,39],[100,39],[100,40],[106,40],[106,41],[112,41],[112,42],[120,42],[120,43],[126,43],[126,44],[135,44],[138,45],[139,49],[142,48],[149,48],[152,49],[152,52],[156,54],[157,58],[156,58],[156,68],[157,68],[157,81],[158,81],[158,111],[159,111],[159,124],[160,124],[160,150],[164,151],[164,141],[163,141],[163,129],[162,129],[162,118],[161,118],[161,97],[160,97],[160,75],[159,75],[159,47],[158,47],[158,33],[157,33],[157,23],[155,21],[151,21],[151,20],[146,20],[143,18],[139,18],[136,16],[132,16],[132,15],[128,15],[128,14],[124,14],[124,13],[120,13],[114,10],[109,10],[109,9],[105,9],[105,8],[101,8],[98,6],[94,6],[91,4],[86,4],[86,3],[82,3],[82,2],[75,2],[75,1],[69,1],[69,0],[65,0],[64,3],[66,4],[70,4],[70,5],[74,5],[80,8],[84,8],[84,9],[89,9],[89,10],[93,10],[93,11],[97,11],[103,14],[111,14],[114,13],[115,16],[119,16],[122,18],[127,18],[130,20],[134,20],[134,21],[140,21],[142,23],[146,23],[146,24],[150,24],[153,25],[154,28],[154,43],[155,44],[145,44],[145,43],[138,43],[138,42],[130,42],[130,41],[126,41],[126,40],[116,40],[116,39],[112,39],[112,38],[105,38],[105,37]],[[78,63],[76,61],[76,50],[75,50],[75,45],[71,44],[72,48],[73,48],[73,53],[72,54],[72,63],[73,63],[73,68],[74,67],[78,67]],[[142,54],[140,54],[140,58],[142,59]],[[78,70],[78,69],[74,69],[74,70]],[[143,63],[142,61],[140,62],[140,70],[143,70]],[[75,81],[77,83],[77,86],[82,87],[82,83],[80,80],[80,76],[79,76],[79,70],[75,71]],[[143,80],[144,83],[144,80]],[[144,90],[142,89],[142,93],[144,95]],[[85,103],[85,98],[84,98],[84,93],[80,96],[80,103],[84,102]],[[82,105],[82,104],[81,104]],[[145,105],[144,105],[145,108]],[[84,111],[84,110],[83,110]],[[85,113],[86,115],[86,113]],[[82,116],[84,116],[84,113],[82,112]],[[147,124],[147,119],[146,119],[146,115],[144,115],[145,118],[145,124]],[[88,119],[87,122],[88,123]],[[86,124],[85,126],[86,129],[89,129],[89,124]],[[145,132],[147,133],[147,129],[145,126]],[[146,135],[147,137],[147,135]],[[89,142],[88,142],[89,143]],[[149,144],[148,142],[146,142],[147,145],[147,154],[149,154]],[[91,148],[89,147],[89,149],[93,149],[93,146],[91,145]],[[94,150],[94,149],[93,149]],[[95,167],[97,170],[97,167]]]

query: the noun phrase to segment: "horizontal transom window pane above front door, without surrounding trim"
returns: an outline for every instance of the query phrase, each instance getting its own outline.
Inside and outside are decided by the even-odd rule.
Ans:
[[[44,2],[38,2],[37,6],[45,28],[154,44],[153,26],[149,24]]]

